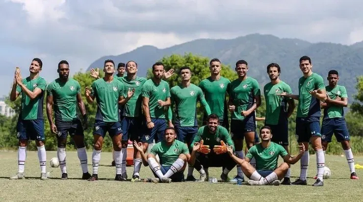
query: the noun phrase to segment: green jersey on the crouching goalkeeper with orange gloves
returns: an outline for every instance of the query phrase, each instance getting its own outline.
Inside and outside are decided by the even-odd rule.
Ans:
[[[211,134],[209,132],[208,126],[202,126],[199,128],[197,135],[194,137],[193,142],[190,144],[190,148],[193,148],[195,142],[200,142],[203,139],[204,145],[209,145],[209,149],[213,152],[214,145],[221,145],[221,140],[224,143],[228,144],[228,146],[233,146],[234,144],[230,134],[227,129],[223,126],[218,126],[215,134]]]

